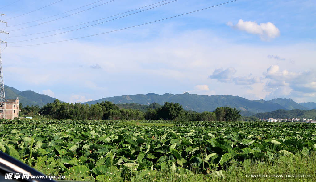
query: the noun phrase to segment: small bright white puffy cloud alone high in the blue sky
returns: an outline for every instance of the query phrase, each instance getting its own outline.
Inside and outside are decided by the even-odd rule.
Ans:
[[[245,31],[253,35],[259,35],[261,40],[269,41],[270,39],[280,36],[280,30],[273,23],[260,23],[239,20],[237,24],[233,24],[231,21],[226,25],[240,31]]]

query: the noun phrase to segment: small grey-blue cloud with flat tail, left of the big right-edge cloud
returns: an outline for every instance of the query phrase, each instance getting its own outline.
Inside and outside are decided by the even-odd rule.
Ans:
[[[262,78],[259,76],[255,77],[234,77],[237,70],[233,67],[229,67],[225,70],[223,68],[215,69],[212,75],[209,76],[210,79],[217,79],[222,83],[232,83],[236,85],[252,85],[254,83],[261,83]]]

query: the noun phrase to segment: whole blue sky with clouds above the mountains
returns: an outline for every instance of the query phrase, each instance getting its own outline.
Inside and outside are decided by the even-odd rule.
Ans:
[[[227,2],[1,1],[4,84],[73,103],[184,92],[316,102],[316,2]]]

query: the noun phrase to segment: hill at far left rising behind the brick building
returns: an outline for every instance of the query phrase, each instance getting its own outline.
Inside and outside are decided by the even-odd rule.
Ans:
[[[4,85],[4,94],[6,99],[16,99],[16,97],[19,97],[19,101],[22,103],[23,107],[27,105],[38,105],[41,108],[47,103],[52,103],[56,100],[56,98],[44,94],[39,94],[34,91],[19,91],[7,85]]]

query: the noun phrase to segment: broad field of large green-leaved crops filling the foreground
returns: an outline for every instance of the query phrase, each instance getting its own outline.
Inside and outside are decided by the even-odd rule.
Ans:
[[[234,164],[246,168],[316,151],[316,125],[307,123],[121,122],[2,123],[0,148],[42,173],[90,181],[146,179],[163,170],[179,178],[192,172],[222,175]]]

